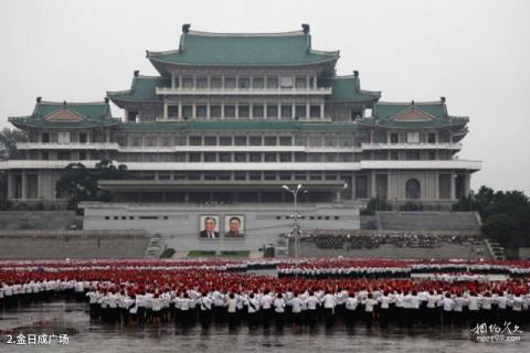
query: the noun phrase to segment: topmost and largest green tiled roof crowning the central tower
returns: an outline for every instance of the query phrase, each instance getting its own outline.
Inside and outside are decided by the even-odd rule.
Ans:
[[[300,65],[336,61],[339,52],[311,50],[311,36],[301,31],[274,34],[224,34],[189,31],[179,50],[147,51],[153,62],[183,65]]]

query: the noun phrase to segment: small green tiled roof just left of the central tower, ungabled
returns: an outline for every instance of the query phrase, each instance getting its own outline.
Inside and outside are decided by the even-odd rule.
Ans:
[[[135,76],[130,89],[121,92],[107,92],[108,98],[114,103],[120,101],[161,101],[156,94],[156,87],[170,86],[171,81],[160,76]],[[120,106],[118,104],[118,106]]]

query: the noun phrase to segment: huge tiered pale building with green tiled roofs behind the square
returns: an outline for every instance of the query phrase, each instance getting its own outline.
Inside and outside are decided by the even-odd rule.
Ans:
[[[105,101],[38,98],[30,116],[9,118],[29,133],[18,145],[25,157],[0,162],[10,201],[60,201],[55,183],[67,164],[109,159],[130,179],[99,185],[124,205],[290,205],[282,185],[303,184],[303,204],[379,196],[444,208],[480,169],[458,159],[468,118],[449,115],[445,98],[380,101],[357,71],[336,74],[339,52],[314,50],[307,24],[265,34],[186,24],[178,49],[147,58],[159,75],[136,71],[130,89],[107,92]]]

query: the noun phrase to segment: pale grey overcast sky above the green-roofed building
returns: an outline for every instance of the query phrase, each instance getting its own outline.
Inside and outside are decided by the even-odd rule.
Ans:
[[[471,186],[530,194],[530,1],[0,2],[0,127],[44,100],[102,100],[155,75],[146,50],[178,47],[181,26],[282,32],[309,23],[312,47],[340,50],[381,100],[447,98],[469,116],[460,159],[483,160]],[[115,116],[123,111],[113,106]]]

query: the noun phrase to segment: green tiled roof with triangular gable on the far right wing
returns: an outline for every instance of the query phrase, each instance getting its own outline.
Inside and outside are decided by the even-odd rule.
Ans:
[[[431,117],[430,120],[396,120],[394,117],[414,108]],[[455,117],[447,114],[445,100],[426,103],[389,103],[379,101],[373,105],[372,117],[360,121],[367,126],[381,126],[386,128],[439,128],[455,125],[466,125],[467,117]]]

